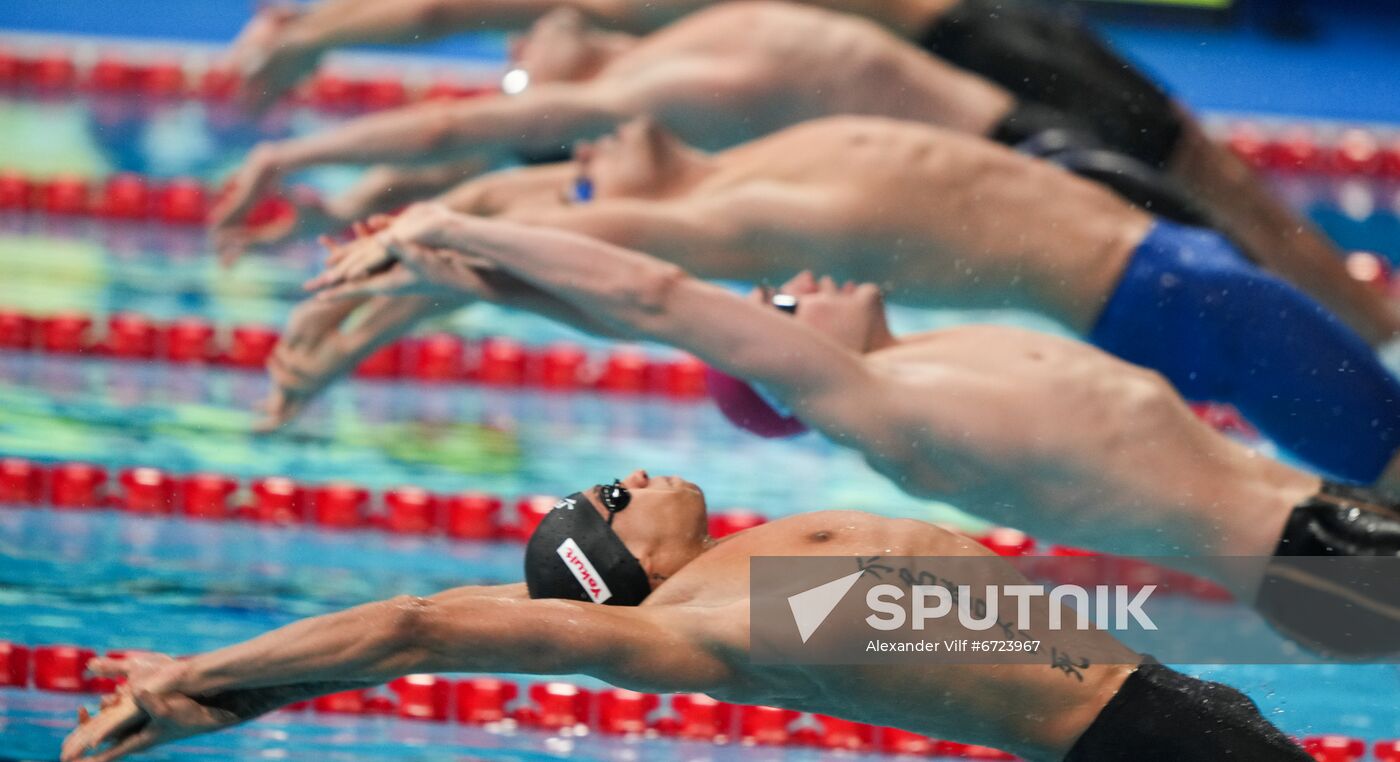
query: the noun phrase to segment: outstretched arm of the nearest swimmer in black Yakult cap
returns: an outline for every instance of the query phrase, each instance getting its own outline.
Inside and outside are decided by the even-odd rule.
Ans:
[[[638,691],[699,691],[728,665],[699,644],[694,612],[494,595],[399,597],[304,619],[195,656],[168,692],[379,684],[416,672],[588,674]],[[745,614],[746,616],[746,614]]]

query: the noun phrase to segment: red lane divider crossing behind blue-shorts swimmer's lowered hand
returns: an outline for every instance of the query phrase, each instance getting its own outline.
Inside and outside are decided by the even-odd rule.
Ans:
[[[235,325],[220,329],[195,317],[160,322],[134,312],[118,312],[101,326],[101,336],[95,322],[85,312],[34,315],[0,308],[0,352],[259,370],[279,339],[273,328]],[[591,357],[568,342],[531,347],[493,338],[469,345],[451,333],[393,342],[367,357],[356,374],[378,380],[533,387],[550,392],[651,394],[678,401],[707,396],[704,364],[690,356],[662,360],[623,347]]]

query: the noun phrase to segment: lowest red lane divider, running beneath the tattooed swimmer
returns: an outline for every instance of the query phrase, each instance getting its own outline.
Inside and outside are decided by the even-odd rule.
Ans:
[[[80,646],[21,646],[0,640],[0,686],[67,693],[106,693],[118,682],[87,674],[97,651]],[[108,651],[123,658],[127,651]],[[623,737],[659,737],[714,744],[806,747],[903,756],[1015,759],[970,744],[918,733],[806,714],[771,706],[718,702],[701,693],[662,696],[619,688],[588,691],[560,681],[517,685],[500,678],[454,681],[407,675],[388,691],[358,689],[288,706],[288,712],[398,716],[406,720]],[[1368,744],[1350,735],[1312,735],[1301,744],[1317,762],[1361,762]],[[1400,762],[1400,740],[1376,741],[1378,762]]]

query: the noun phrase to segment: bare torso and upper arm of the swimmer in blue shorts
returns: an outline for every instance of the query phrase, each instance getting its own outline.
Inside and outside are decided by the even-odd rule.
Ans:
[[[598,151],[599,175],[609,160]],[[664,195],[599,181],[589,205],[521,193],[501,216],[638,248],[704,277],[785,279],[809,268],[879,283],[899,301],[1040,310],[1078,331],[1093,325],[1152,226],[1047,162],[883,118],[816,119],[700,161],[694,181]],[[508,182],[472,185],[510,198]]]

